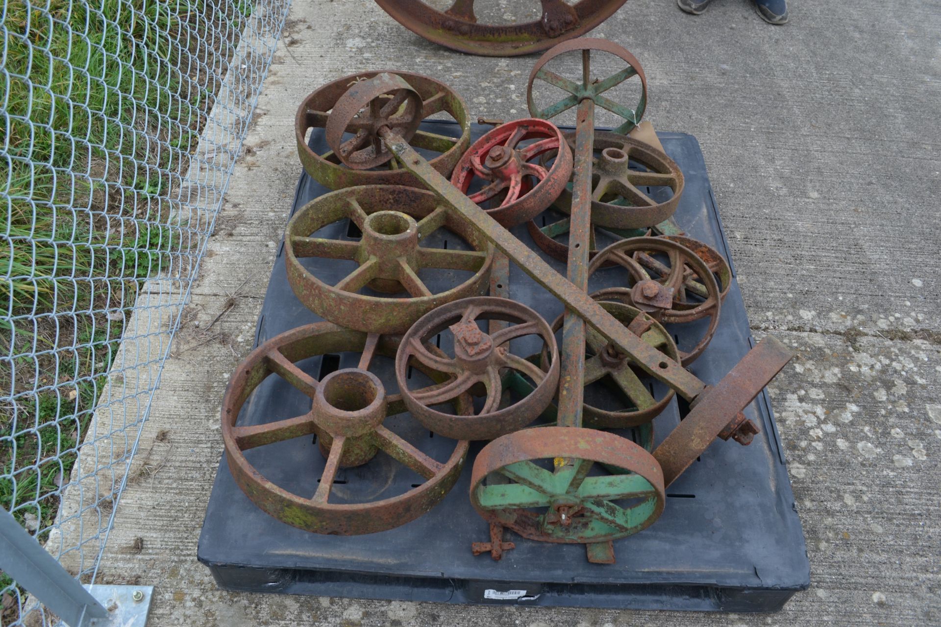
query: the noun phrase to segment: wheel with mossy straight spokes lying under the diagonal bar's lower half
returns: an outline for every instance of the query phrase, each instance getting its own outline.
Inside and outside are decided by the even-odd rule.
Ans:
[[[673,337],[658,321],[640,309],[622,303],[601,303],[601,306],[635,336],[671,359],[679,360]],[[553,333],[562,329],[562,321],[563,317],[559,316],[552,322]],[[542,353],[541,364],[543,369],[549,365],[549,353]],[[667,387],[661,399],[654,398],[638,372],[643,374],[643,370],[636,367],[630,356],[618,351],[614,344],[591,327],[585,329],[584,386],[596,382],[608,384],[627,398],[630,404],[626,409],[614,412],[585,403],[582,410],[583,426],[591,429],[636,427],[660,415],[676,393]]]

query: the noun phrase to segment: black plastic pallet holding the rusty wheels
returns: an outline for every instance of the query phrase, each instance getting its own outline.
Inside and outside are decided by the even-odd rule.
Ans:
[[[453,124],[430,122],[427,127],[435,133],[456,132]],[[486,130],[475,126],[474,139]],[[660,133],[660,138],[685,176],[675,216],[678,224],[729,259],[698,142],[683,133]],[[321,153],[327,150],[320,133],[311,136],[311,147]],[[325,188],[303,174],[294,210],[325,193]],[[344,233],[343,225],[337,228],[338,232],[327,236],[356,236]],[[532,244],[525,227],[513,230],[520,240]],[[544,258],[565,273],[564,264]],[[334,269],[324,260],[320,263],[318,275],[325,280],[332,278],[334,270],[337,280],[349,271]],[[510,276],[512,298],[533,306],[549,321],[562,312],[557,300],[512,264]],[[440,288],[453,280],[446,274],[436,278]],[[434,280],[426,282],[436,290]],[[589,286],[592,290],[600,287]],[[256,344],[318,320],[287,283],[282,244]],[[678,335],[678,339],[682,345],[687,338]],[[690,369],[714,384],[753,345],[742,294],[733,281],[719,329]],[[356,366],[354,355],[339,356],[339,363],[336,358],[316,357],[302,367],[317,376],[321,368]],[[387,384],[389,393],[397,390],[391,360],[380,361],[371,370]],[[304,397],[289,388],[278,377],[269,377],[243,409],[239,424],[259,424],[307,411]],[[645,531],[614,542],[617,562],[613,565],[589,563],[581,544],[528,541],[510,531],[506,540],[516,541],[517,548],[502,561],[495,562],[488,554],[473,556],[470,543],[488,539],[487,525],[471,508],[468,497],[470,468],[482,443],[471,445],[461,478],[437,508],[407,525],[353,537],[308,533],[265,514],[235,485],[223,456],[199,537],[199,561],[209,567],[221,588],[252,592],[443,603],[774,611],[794,592],[808,587],[809,564],[767,393],[759,395],[745,413],[761,427],[752,445],[716,440],[670,486],[661,518]],[[678,420],[674,400],[654,422],[655,441],[659,443]],[[386,425],[439,460],[446,459],[454,447],[454,441],[432,436],[404,416],[393,416]],[[625,435],[630,436],[630,430]],[[259,447],[248,451],[248,456],[266,478],[296,494],[312,494],[324,466],[311,438]],[[365,466],[342,470],[331,502],[401,494],[419,480],[380,453]]]

